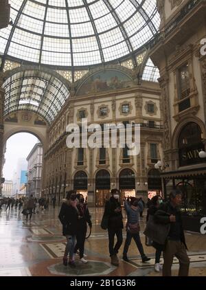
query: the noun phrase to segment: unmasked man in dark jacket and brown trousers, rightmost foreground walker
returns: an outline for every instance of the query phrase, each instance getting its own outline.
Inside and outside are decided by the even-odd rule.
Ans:
[[[157,223],[170,223],[170,232],[165,241],[163,249],[163,276],[171,276],[171,267],[173,258],[179,259],[179,276],[188,276],[190,260],[187,256],[187,246],[185,243],[185,234],[183,231],[183,223],[181,219],[181,191],[172,190],[170,192],[170,201],[160,205],[159,210],[155,212],[155,221]],[[163,215],[166,212],[170,215]]]

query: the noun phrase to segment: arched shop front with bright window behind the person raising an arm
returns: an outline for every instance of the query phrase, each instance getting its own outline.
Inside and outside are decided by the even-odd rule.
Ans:
[[[131,169],[123,169],[119,173],[120,201],[123,205],[124,197],[136,197],[135,172]]]

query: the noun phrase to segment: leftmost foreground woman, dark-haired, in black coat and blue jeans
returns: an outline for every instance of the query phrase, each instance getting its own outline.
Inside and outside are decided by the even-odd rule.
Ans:
[[[62,223],[63,236],[67,238],[67,245],[65,247],[65,255],[63,257],[63,264],[68,265],[69,254],[69,266],[76,267],[73,260],[73,250],[76,243],[78,216],[80,215],[77,209],[76,192],[70,190],[67,193],[66,199],[63,199],[62,207],[58,218]]]

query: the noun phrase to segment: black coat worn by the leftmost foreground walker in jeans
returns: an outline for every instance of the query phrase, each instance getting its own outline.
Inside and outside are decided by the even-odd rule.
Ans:
[[[75,236],[78,230],[78,215],[79,212],[73,208],[67,199],[63,199],[62,206],[58,218],[62,223],[63,236]]]

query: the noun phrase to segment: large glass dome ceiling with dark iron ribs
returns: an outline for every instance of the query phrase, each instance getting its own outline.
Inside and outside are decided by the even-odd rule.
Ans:
[[[129,56],[159,29],[156,0],[10,0],[0,55],[56,67]]]

